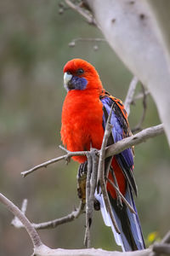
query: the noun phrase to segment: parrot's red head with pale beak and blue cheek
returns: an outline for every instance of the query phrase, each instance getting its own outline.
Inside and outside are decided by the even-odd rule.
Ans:
[[[99,74],[87,61],[73,59],[64,67],[66,90],[90,90],[102,88]]]

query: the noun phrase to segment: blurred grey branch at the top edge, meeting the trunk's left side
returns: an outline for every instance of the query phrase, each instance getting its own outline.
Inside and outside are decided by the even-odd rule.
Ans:
[[[97,26],[94,17],[92,15],[89,15],[88,12],[86,12],[84,9],[82,9],[79,5],[72,3],[70,0],[65,0],[65,3],[67,3],[68,6],[71,7],[71,9],[74,9],[84,17],[90,25]]]

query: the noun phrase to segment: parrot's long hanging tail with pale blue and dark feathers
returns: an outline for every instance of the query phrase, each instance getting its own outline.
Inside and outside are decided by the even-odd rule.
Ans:
[[[111,217],[105,208],[105,201],[103,199],[103,195],[96,193],[95,197],[100,203],[100,209],[105,221],[105,225],[111,226],[111,229],[115,236],[116,244],[122,247],[122,251],[128,252],[144,249],[144,238],[139,223],[139,216],[133,201],[133,194],[129,185],[127,185],[125,198],[131,205],[131,207],[133,207],[136,214],[130,212],[130,210],[124,203],[122,203],[122,208],[120,206],[117,206],[117,201],[113,199],[111,195],[109,195],[112,212],[116,219],[116,224],[121,231],[121,234],[118,234],[116,232],[111,222]]]

